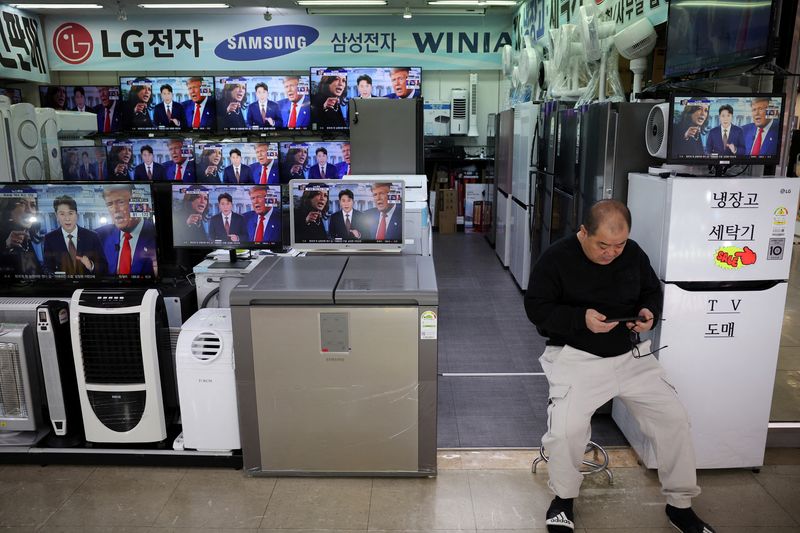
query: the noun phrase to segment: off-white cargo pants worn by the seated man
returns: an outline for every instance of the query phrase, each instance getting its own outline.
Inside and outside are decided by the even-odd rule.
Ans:
[[[641,343],[639,349],[649,353],[650,341]],[[691,499],[700,494],[700,488],[689,419],[653,355],[636,359],[628,352],[598,357],[570,346],[548,346],[539,361],[550,384],[548,429],[542,446],[549,457],[548,484],[557,496],[578,496],[592,415],[618,397],[653,444],[667,503],[691,507]]]

